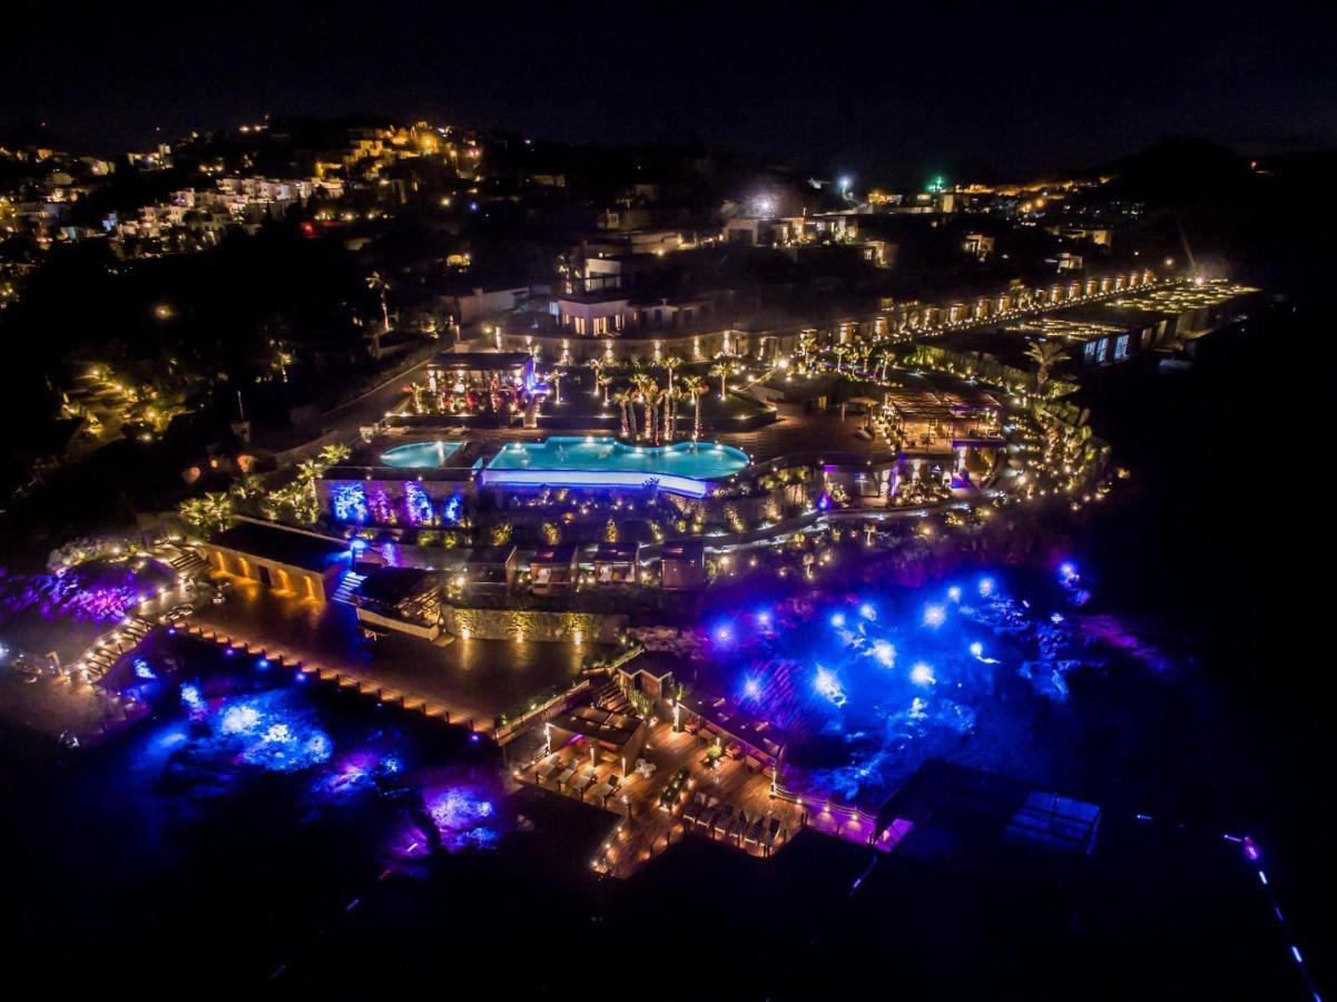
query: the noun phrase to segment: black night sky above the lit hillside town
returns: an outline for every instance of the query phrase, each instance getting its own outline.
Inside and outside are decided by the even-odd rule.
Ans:
[[[20,8],[0,128],[96,142],[374,110],[695,138],[881,181],[1088,166],[1177,135],[1337,144],[1337,16],[1285,3]]]

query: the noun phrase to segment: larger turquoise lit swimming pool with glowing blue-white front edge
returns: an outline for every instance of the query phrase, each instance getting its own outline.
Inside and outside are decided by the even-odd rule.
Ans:
[[[505,445],[483,471],[484,483],[570,487],[659,488],[703,498],[710,482],[735,474],[751,460],[731,445],[681,441],[675,445],[624,445],[612,437],[555,436]]]

